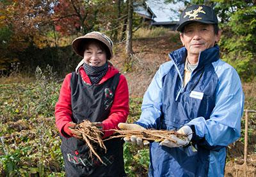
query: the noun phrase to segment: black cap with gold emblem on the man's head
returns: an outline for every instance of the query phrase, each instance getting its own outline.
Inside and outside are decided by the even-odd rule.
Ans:
[[[182,11],[177,31],[182,31],[184,26],[190,24],[191,22],[218,24],[218,19],[214,10],[210,6],[193,5]]]

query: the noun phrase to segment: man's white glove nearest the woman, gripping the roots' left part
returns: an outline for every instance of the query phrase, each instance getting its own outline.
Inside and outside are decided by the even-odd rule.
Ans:
[[[142,131],[145,130],[144,127],[141,127],[138,124],[127,124],[127,123],[119,123],[118,124],[119,129],[122,130],[134,130],[134,131]],[[132,135],[131,137],[127,136],[124,138],[124,141],[127,143],[135,143],[139,146],[144,146],[144,145],[148,145],[149,142],[147,140],[143,140],[141,138],[138,138],[135,135]]]

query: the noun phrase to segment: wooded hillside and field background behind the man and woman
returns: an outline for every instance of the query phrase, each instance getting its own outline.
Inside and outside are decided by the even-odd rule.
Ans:
[[[157,3],[157,0],[155,0]],[[177,0],[168,2],[177,3]],[[168,53],[181,46],[179,33],[151,27],[132,13],[141,0],[0,1],[0,176],[65,176],[54,105],[65,74],[81,60],[74,38],[101,31],[114,41],[111,62],[129,83],[128,121],[140,117],[143,94]],[[182,1],[214,6],[223,35],[221,59],[234,66],[243,82],[244,108],[256,110],[256,2]],[[249,115],[250,166],[255,168],[255,114]],[[228,146],[227,166],[243,164],[242,136]],[[124,146],[125,171],[146,176],[148,148]],[[236,171],[231,169],[230,171]],[[226,171],[228,175],[234,175]]]

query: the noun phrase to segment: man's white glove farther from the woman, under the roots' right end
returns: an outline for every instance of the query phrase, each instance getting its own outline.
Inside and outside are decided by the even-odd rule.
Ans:
[[[175,142],[170,141],[168,139],[164,139],[164,141],[162,141],[160,143],[161,146],[167,146],[169,148],[178,148],[178,147],[182,147],[182,146],[186,146],[188,145],[188,143],[191,141],[191,138],[193,136],[193,131],[192,129],[188,126],[185,125],[183,127],[181,127],[179,129],[179,131],[177,131],[179,134],[184,134],[186,135],[185,138],[178,138],[175,134],[172,134],[170,136],[170,139],[173,139]]]

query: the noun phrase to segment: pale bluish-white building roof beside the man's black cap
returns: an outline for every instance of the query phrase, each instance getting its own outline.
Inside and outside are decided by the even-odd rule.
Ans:
[[[184,3],[179,2],[176,4],[165,4],[164,0],[148,0],[148,6],[155,13],[157,18],[154,18],[156,22],[166,21],[179,21],[180,10],[184,10]]]

